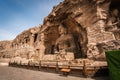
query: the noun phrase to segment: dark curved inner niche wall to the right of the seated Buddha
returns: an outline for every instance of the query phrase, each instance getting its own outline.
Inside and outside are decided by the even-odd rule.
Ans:
[[[77,51],[75,58],[87,57],[87,31],[83,26],[77,23],[73,18],[67,18],[63,23],[68,27],[69,33],[74,36]]]

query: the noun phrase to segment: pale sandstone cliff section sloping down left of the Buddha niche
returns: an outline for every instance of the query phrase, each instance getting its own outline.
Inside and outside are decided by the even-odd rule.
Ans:
[[[21,56],[22,58],[29,59],[35,55],[34,46],[39,29],[39,27],[34,27],[25,30],[12,41],[11,49],[13,50],[14,57]]]

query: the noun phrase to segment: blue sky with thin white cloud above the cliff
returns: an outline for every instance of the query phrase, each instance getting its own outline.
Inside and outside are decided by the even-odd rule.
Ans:
[[[43,23],[63,0],[0,0],[0,40],[12,40],[22,31]]]

